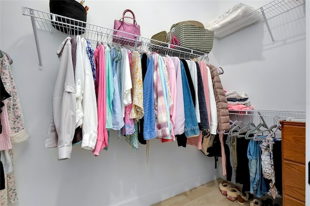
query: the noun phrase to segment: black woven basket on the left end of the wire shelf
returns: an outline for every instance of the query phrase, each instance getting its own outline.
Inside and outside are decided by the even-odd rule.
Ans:
[[[55,15],[62,15],[65,17],[86,22],[86,9],[76,0],[49,0],[49,11],[50,13]],[[60,30],[66,34],[79,35],[85,32],[86,23],[69,20],[59,16],[56,16],[55,20],[71,25],[70,26],[52,21],[52,25],[55,29]]]

